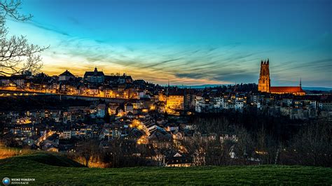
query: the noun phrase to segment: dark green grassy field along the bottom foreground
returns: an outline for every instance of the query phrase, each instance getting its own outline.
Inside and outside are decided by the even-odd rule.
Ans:
[[[332,185],[332,168],[309,166],[206,166],[191,168],[86,168],[71,159],[35,153],[0,159],[2,178],[35,178],[30,185]]]

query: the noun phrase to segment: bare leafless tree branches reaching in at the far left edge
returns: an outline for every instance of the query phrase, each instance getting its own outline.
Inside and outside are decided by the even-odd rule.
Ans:
[[[0,76],[18,75],[24,71],[35,73],[41,69],[40,52],[45,47],[29,44],[25,36],[8,36],[6,19],[25,22],[32,15],[22,15],[18,9],[21,0],[0,0]]]

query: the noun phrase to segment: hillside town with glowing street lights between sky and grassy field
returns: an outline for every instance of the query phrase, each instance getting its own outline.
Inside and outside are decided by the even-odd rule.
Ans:
[[[261,62],[258,85],[203,89],[155,85],[97,68],[83,77],[69,70],[59,76],[28,71],[4,76],[1,144],[62,152],[97,167],[242,164],[243,159],[263,164],[282,157],[291,162],[296,157],[279,150],[267,159],[272,152],[256,137],[251,139],[256,145],[244,142],[239,124],[247,132],[287,141],[304,122],[332,121],[332,95],[305,92],[301,85],[270,87],[268,64]],[[226,148],[220,144],[228,144],[227,159],[217,161],[215,150]]]

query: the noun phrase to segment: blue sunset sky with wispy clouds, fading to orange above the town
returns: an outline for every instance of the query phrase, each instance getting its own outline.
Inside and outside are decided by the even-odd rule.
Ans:
[[[160,85],[258,83],[332,87],[329,0],[22,0],[9,34],[49,46],[44,73],[95,67]]]

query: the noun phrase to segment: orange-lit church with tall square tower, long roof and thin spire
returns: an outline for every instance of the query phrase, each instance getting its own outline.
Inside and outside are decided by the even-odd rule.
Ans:
[[[298,96],[304,96],[305,92],[302,90],[301,81],[297,87],[271,87],[270,86],[270,69],[269,59],[261,61],[261,73],[258,80],[258,91],[269,92],[272,94],[294,94]]]

